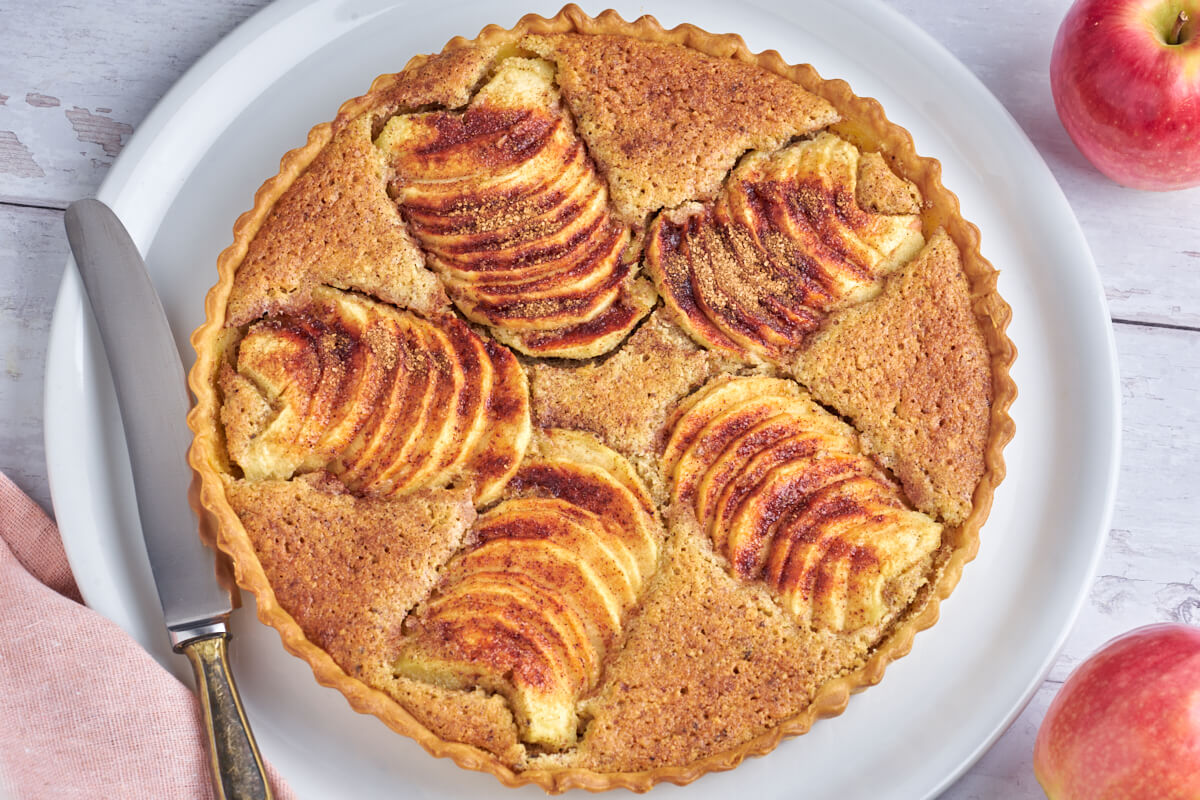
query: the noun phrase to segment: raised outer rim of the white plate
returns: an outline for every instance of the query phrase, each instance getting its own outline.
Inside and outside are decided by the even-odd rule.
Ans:
[[[818,0],[827,2],[828,0]],[[176,82],[172,89],[163,96],[163,98],[155,106],[150,114],[145,118],[142,125],[138,126],[137,132],[131,138],[126,148],[122,150],[121,155],[118,157],[113,168],[109,170],[102,181],[97,197],[109,201],[110,205],[120,213],[122,198],[128,193],[128,188],[133,180],[138,176],[139,168],[144,166],[144,158],[146,152],[155,145],[155,143],[162,137],[164,131],[169,131],[170,126],[175,121],[176,115],[186,109],[187,104],[191,102],[193,94],[206,82],[212,79],[233,58],[238,56],[240,53],[245,52],[247,46],[258,41],[262,36],[269,34],[271,30],[276,29],[286,20],[293,16],[304,12],[308,8],[314,8],[318,6],[330,6],[335,4],[336,0],[282,0],[274,5],[269,5],[260,11],[256,12],[253,16],[247,18],[241,25],[234,29],[229,35],[222,38],[211,50],[203,55],[196,64],[190,67],[184,76]],[[388,4],[385,4],[388,5]],[[403,2],[396,2],[388,5],[388,11],[395,8],[396,6],[402,6]],[[1094,258],[1092,257],[1091,249],[1086,242],[1082,229],[1079,225],[1079,221],[1070,209],[1066,196],[1063,194],[1061,187],[1055,180],[1042,155],[1030,142],[1028,137],[1025,134],[1020,125],[1013,119],[1009,112],[1000,103],[1000,101],[988,90],[988,88],[973,74],[970,70],[962,65],[947,48],[944,48],[940,42],[934,40],[929,34],[922,30],[916,23],[907,19],[899,11],[884,5],[880,0],[852,0],[850,4],[860,8],[869,10],[872,14],[880,14],[887,18],[887,24],[895,28],[902,29],[902,35],[898,38],[908,40],[920,44],[928,53],[934,54],[934,60],[950,71],[947,77],[947,83],[958,82],[968,85],[972,89],[973,98],[984,102],[991,107],[992,113],[1000,113],[1004,119],[1007,119],[1009,130],[1007,133],[1013,134],[1015,140],[1020,140],[1027,155],[1032,156],[1032,167],[1034,169],[1044,170],[1045,176],[1049,179],[1050,185],[1056,190],[1056,197],[1054,200],[1061,203],[1061,205],[1067,210],[1067,217],[1070,219],[1069,229],[1067,234],[1069,239],[1074,240],[1070,242],[1070,248],[1078,254],[1086,259],[1088,270],[1085,271],[1087,282],[1091,284],[1094,306],[1092,308],[1092,314],[1099,313],[1105,320],[1105,336],[1103,337],[1103,349],[1106,359],[1103,360],[1103,367],[1106,367],[1109,393],[1105,397],[1106,404],[1105,409],[1108,413],[1104,416],[1110,423],[1110,446],[1106,453],[1106,474],[1103,487],[1103,501],[1099,510],[1099,517],[1097,519],[1096,531],[1091,539],[1091,553],[1087,566],[1085,569],[1086,579],[1080,582],[1080,585],[1075,590],[1074,602],[1072,603],[1068,613],[1064,614],[1062,622],[1058,628],[1057,637],[1055,638],[1055,645],[1043,658],[1043,663],[1038,674],[1031,676],[1026,690],[1022,696],[1013,705],[1010,711],[1000,721],[991,734],[985,741],[980,741],[976,748],[965,758],[956,769],[947,774],[943,780],[934,788],[930,789],[926,796],[934,796],[947,787],[950,786],[955,780],[958,780],[967,769],[974,764],[979,757],[1007,730],[1016,716],[1024,710],[1030,699],[1036,693],[1037,688],[1042,685],[1045,675],[1049,673],[1050,668],[1054,666],[1057,654],[1061,651],[1063,644],[1067,640],[1070,630],[1074,626],[1075,620],[1086,601],[1087,593],[1094,581],[1094,575],[1097,572],[1100,558],[1103,555],[1104,545],[1106,542],[1109,530],[1111,529],[1111,519],[1116,501],[1116,487],[1117,477],[1121,464],[1121,393],[1120,393],[1120,373],[1118,373],[1118,361],[1115,343],[1115,335],[1111,323],[1111,314],[1108,308],[1108,301],[1103,290],[1103,282],[1099,271],[1096,266]],[[654,13],[654,8],[648,8],[648,12]],[[330,40],[332,41],[332,38]],[[930,59],[926,59],[930,60]],[[932,61],[930,61],[932,62]],[[290,65],[288,70],[294,68]],[[284,72],[287,72],[286,70]],[[268,84],[269,85],[269,84]],[[239,110],[239,114],[244,109]],[[211,144],[211,143],[210,143]],[[202,154],[203,155],[203,154]],[[186,175],[185,175],[186,178]],[[180,181],[181,184],[181,181]],[[172,197],[176,196],[179,187],[176,186]],[[131,233],[136,241],[143,249],[146,242],[151,242],[154,236],[157,234],[158,227],[162,222],[162,217],[166,216],[169,209],[169,203],[162,205],[162,213],[154,224],[143,224],[140,227],[131,225]],[[68,342],[73,335],[78,333],[78,329],[72,330],[72,325],[78,325],[78,317],[82,306],[84,305],[78,277],[74,270],[73,259],[68,258],[66,271],[64,273],[62,282],[59,288],[59,294],[55,301],[54,314],[50,326],[49,344],[47,348],[47,367],[46,367],[46,379],[44,379],[44,395],[43,395],[43,420],[44,420],[44,444],[47,455],[47,476],[50,486],[52,498],[54,500],[55,516],[60,519],[60,527],[62,525],[61,519],[66,518],[71,522],[67,523],[66,528],[72,531],[79,530],[80,525],[76,522],[73,516],[67,512],[62,513],[61,510],[66,507],[67,498],[70,497],[70,491],[65,488],[64,483],[60,482],[60,476],[62,476],[67,470],[61,465],[61,457],[64,453],[62,445],[56,439],[58,426],[52,421],[56,419],[60,409],[62,408],[61,401],[59,401],[59,392],[64,390],[55,378],[58,377],[56,371],[53,368],[54,362],[61,363],[62,354],[70,353],[73,342]],[[178,338],[176,331],[176,338]],[[52,455],[53,453],[53,455]],[[58,487],[58,491],[56,491]],[[62,498],[61,503],[59,498]],[[61,528],[60,528],[61,529]],[[71,545],[68,545],[68,539]],[[80,558],[77,547],[73,547],[77,542],[77,535],[64,536],[65,549],[67,551],[67,558],[71,567],[76,575],[89,576],[88,564]],[[89,576],[90,577],[90,576]],[[90,583],[85,577],[80,583],[80,591],[84,594],[85,600],[91,600],[89,594],[98,597],[100,590],[96,588],[95,583]],[[86,585],[86,588],[85,588]],[[89,602],[91,604],[91,602]],[[103,606],[103,603],[100,603]],[[103,613],[103,612],[102,612]]]

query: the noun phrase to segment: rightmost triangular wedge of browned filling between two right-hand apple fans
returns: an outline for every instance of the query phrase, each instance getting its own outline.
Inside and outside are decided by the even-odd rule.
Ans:
[[[793,372],[854,423],[913,505],[966,519],[984,473],[992,380],[949,236],[937,231],[874,302],[835,314]]]

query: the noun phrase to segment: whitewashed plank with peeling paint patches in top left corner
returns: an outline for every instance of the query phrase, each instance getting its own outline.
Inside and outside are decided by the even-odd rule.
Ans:
[[[65,207],[94,194],[180,76],[266,0],[0,11],[0,201]]]

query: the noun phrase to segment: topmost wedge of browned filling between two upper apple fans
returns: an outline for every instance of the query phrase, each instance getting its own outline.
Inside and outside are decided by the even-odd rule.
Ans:
[[[630,223],[712,199],[746,150],[774,150],[835,121],[790,80],[678,44],[625,36],[522,40],[558,67],[558,85]]]

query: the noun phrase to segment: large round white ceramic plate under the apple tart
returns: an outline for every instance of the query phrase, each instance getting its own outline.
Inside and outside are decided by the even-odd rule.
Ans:
[[[217,253],[236,216],[310,126],[414,53],[558,0],[274,5],[202,59],[163,98],[100,191],[146,254],[185,363]],[[632,19],[738,31],[877,97],[983,230],[1013,305],[1020,349],[1004,458],[979,558],[912,655],[842,716],[733,772],[655,795],[923,798],[970,766],[1015,718],[1066,638],[1109,528],[1120,405],[1104,294],[1087,245],[1037,151],[946,50],[870,0],[786,8],[712,0],[614,2]],[[601,6],[589,8],[592,13]],[[871,20],[864,24],[863,20]],[[853,42],[853,48],[845,47]],[[54,509],[80,589],[161,662],[185,674],[162,631],[134,511],[110,379],[77,275],[62,282],[46,369]],[[234,669],[263,752],[301,798],[478,796],[496,781],[434,760],[341,694],[316,685],[250,608],[235,613]],[[846,751],[853,742],[853,757]],[[541,796],[526,788],[521,796]]]

